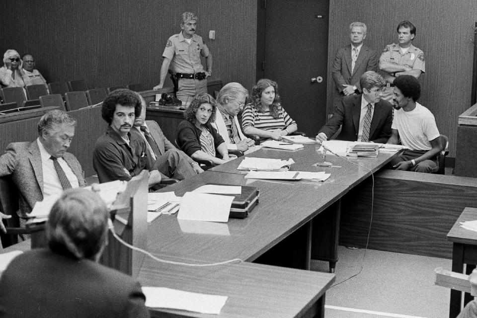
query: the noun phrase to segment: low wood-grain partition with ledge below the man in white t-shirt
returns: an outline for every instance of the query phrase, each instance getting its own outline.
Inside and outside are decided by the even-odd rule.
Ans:
[[[477,207],[477,179],[384,169],[375,174],[368,248],[452,258],[446,235],[465,207]],[[371,177],[342,200],[340,245],[365,247]]]

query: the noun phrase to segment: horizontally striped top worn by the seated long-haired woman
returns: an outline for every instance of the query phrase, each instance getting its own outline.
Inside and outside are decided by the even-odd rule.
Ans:
[[[247,104],[242,113],[242,128],[251,126],[261,130],[285,129],[295,121],[283,107],[278,109],[278,118],[270,115],[270,111],[259,112],[252,104]]]

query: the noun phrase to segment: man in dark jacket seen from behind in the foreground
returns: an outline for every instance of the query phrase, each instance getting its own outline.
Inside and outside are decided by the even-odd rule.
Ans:
[[[149,317],[139,282],[97,263],[108,217],[96,193],[66,190],[46,224],[49,248],[20,254],[1,275],[0,317]]]

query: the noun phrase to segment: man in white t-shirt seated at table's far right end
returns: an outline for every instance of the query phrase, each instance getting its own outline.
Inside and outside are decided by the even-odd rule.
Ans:
[[[439,130],[434,115],[417,99],[421,94],[419,81],[411,75],[401,75],[394,80],[394,108],[396,109],[392,135],[388,144],[409,148],[390,165],[396,170],[435,172],[439,169],[437,155],[442,149]]]

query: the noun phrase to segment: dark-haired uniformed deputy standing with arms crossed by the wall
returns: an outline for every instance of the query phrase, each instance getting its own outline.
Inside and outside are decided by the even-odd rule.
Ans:
[[[425,73],[424,52],[411,44],[416,27],[409,21],[397,25],[398,43],[387,45],[379,58],[379,68],[387,82],[383,99],[393,101],[393,81],[399,75],[412,75],[416,79]]]

